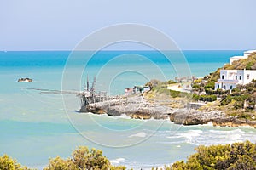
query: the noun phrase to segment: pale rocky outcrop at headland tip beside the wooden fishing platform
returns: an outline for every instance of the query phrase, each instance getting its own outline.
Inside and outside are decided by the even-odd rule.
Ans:
[[[106,113],[108,116],[125,114],[138,119],[150,119],[151,117],[155,119],[166,119],[173,112],[172,108],[155,105],[143,99],[142,96],[98,102],[87,105],[86,109],[96,114]]]

